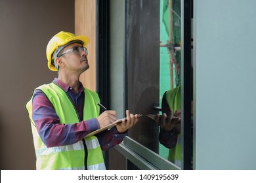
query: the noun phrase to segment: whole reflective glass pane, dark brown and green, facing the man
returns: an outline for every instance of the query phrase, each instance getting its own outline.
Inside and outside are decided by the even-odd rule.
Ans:
[[[143,114],[129,137],[180,166],[180,122],[175,129],[171,126],[171,131],[162,131],[160,124],[148,116],[162,114],[163,95],[171,89],[168,93],[178,94],[173,99],[167,97],[171,101],[165,102],[166,113],[170,115],[171,103],[175,103],[173,110],[181,110],[181,90],[177,90],[181,86],[180,0],[126,1],[125,64],[125,107]],[[170,144],[171,150],[167,148]],[[170,156],[175,152],[176,156]]]

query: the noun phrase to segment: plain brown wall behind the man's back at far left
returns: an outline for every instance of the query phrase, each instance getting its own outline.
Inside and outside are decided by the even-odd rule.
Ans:
[[[35,169],[24,104],[33,88],[57,76],[45,48],[55,33],[74,32],[74,1],[1,0],[0,26],[0,168]]]

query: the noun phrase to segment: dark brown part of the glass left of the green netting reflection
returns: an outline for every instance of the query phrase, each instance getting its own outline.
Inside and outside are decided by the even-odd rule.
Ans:
[[[146,114],[159,106],[160,1],[125,2],[125,108],[143,114],[129,137],[158,153],[159,127]]]

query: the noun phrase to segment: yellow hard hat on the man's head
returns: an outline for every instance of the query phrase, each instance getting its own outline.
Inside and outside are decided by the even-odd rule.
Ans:
[[[58,53],[68,46],[69,42],[81,42],[83,46],[86,46],[90,40],[88,37],[85,36],[76,36],[74,33],[69,33],[69,32],[64,32],[60,31],[56,35],[53,36],[53,38],[48,42],[47,48],[46,48],[46,56],[48,60],[48,67],[51,71],[58,71],[56,67],[54,66],[54,58],[53,58],[53,53],[58,50],[56,53],[56,56]]]

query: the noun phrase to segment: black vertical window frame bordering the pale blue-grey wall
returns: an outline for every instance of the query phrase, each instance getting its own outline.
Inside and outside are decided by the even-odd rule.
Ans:
[[[182,169],[192,169],[192,16],[193,0],[183,0],[182,7]]]

